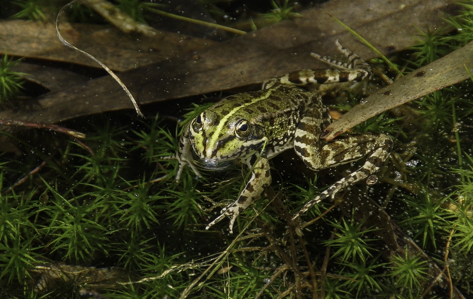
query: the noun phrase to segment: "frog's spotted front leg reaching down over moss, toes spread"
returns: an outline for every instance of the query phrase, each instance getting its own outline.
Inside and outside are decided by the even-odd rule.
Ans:
[[[210,222],[205,228],[208,230],[211,226],[225,218],[230,217],[230,233],[233,233],[233,225],[236,217],[244,211],[247,207],[253,204],[256,200],[261,198],[263,192],[271,184],[270,165],[266,156],[261,156],[256,162],[251,173],[251,178],[241,191],[238,199],[222,209],[222,215]]]

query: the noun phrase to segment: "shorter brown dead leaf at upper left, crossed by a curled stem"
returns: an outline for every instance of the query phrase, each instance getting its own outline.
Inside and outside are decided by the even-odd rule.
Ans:
[[[68,42],[118,71],[173,59],[215,43],[168,32],[152,37],[126,35],[112,26],[91,24],[61,23],[60,31]],[[65,47],[58,39],[55,25],[50,23],[1,21],[0,53],[99,67],[83,54]]]

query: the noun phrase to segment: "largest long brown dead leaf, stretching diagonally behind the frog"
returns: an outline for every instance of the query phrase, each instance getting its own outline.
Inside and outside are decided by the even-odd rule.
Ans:
[[[368,39],[384,54],[416,43],[417,28],[444,26],[444,12],[453,13],[454,0],[333,0],[302,14],[190,55],[141,67],[120,78],[140,104],[260,83],[289,71],[323,67],[310,52],[333,55],[335,40],[365,59],[374,54],[346,32],[326,12]],[[449,4],[450,3],[450,4]],[[74,27],[75,28],[75,27]],[[1,30],[1,29],[0,29]],[[40,109],[2,111],[0,118],[59,122],[81,115],[131,108],[132,103],[110,77],[50,93],[38,100]]]

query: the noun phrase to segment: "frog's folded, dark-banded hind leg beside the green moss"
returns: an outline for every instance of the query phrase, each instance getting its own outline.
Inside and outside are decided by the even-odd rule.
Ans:
[[[297,212],[293,219],[299,217],[310,207],[321,200],[331,197],[343,188],[346,188],[360,180],[363,180],[376,172],[389,156],[392,148],[392,139],[384,134],[362,133],[351,136],[338,137],[322,146],[319,136],[312,134],[309,124],[312,117],[304,117],[294,140],[294,148],[304,163],[313,170],[321,170],[332,166],[338,166],[353,162],[368,156],[365,164],[358,170],[343,177],[316,198],[308,201],[304,207]],[[318,130],[316,130],[318,132]]]

